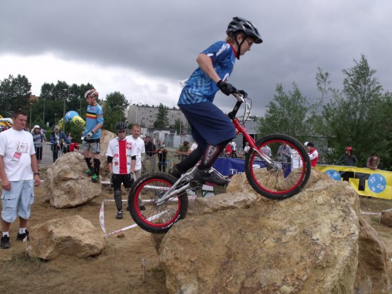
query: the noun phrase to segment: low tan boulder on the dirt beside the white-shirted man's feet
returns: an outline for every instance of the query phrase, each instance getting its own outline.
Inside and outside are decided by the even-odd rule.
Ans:
[[[59,255],[87,258],[102,253],[105,235],[80,216],[56,218],[30,228],[28,255],[53,260]]]

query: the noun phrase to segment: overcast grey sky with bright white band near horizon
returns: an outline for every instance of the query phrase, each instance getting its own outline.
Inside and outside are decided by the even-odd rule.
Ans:
[[[172,107],[197,54],[238,16],[264,42],[236,62],[230,83],[262,115],[277,83],[315,98],[317,67],[341,89],[342,69],[361,54],[391,90],[391,14],[390,0],[0,0],[0,80],[25,75],[37,96],[43,83],[92,83],[100,98],[119,91],[131,103]],[[215,103],[234,105],[223,94]]]

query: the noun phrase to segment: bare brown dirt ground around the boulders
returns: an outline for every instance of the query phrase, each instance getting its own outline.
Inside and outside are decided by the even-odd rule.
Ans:
[[[43,193],[42,185],[36,188],[28,227],[53,218],[79,215],[100,228],[102,201],[113,199],[111,191],[102,191],[98,198],[82,207],[55,209],[43,202]],[[123,199],[126,197],[123,195]],[[379,212],[392,208],[392,201],[361,198],[361,207],[362,211]],[[128,212],[123,220],[116,220],[115,215],[114,202],[105,202],[107,233],[133,224]],[[377,215],[366,218],[386,243],[391,259],[392,228],[380,225]],[[167,293],[164,271],[158,266],[150,234],[138,227],[110,235],[105,251],[94,258],[61,256],[48,262],[25,255],[26,244],[16,240],[17,228],[17,222],[11,225],[10,249],[0,249],[0,293]],[[144,267],[142,259],[146,262]]]

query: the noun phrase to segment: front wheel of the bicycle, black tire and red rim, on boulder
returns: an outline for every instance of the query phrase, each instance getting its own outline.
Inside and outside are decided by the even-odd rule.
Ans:
[[[290,146],[292,156],[290,162],[278,158],[279,146],[283,143]],[[271,149],[272,164],[267,164],[259,154],[250,150],[246,156],[246,178],[254,191],[265,198],[283,200],[298,193],[309,180],[311,166],[305,147],[295,138],[285,134],[272,134],[258,140],[256,146],[265,153]]]

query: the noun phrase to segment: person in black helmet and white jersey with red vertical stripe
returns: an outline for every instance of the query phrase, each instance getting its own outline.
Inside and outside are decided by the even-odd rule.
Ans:
[[[127,124],[120,121],[116,123],[117,138],[109,142],[107,146],[107,169],[109,171],[111,187],[114,191],[118,220],[123,218],[121,184],[125,188],[133,185],[133,173],[135,171],[136,155],[138,149],[127,137]]]

